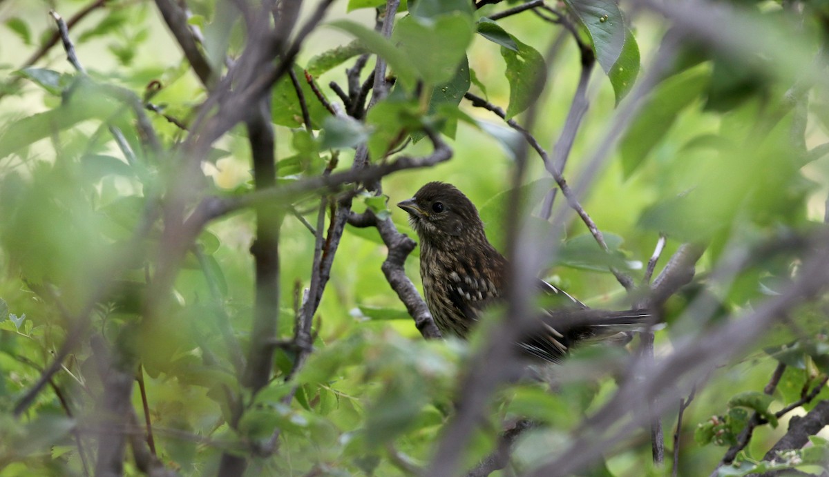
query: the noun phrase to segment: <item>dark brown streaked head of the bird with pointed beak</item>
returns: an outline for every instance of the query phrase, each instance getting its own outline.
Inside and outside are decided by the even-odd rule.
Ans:
[[[421,242],[457,243],[458,239],[485,237],[478,210],[454,185],[429,182],[397,206],[409,213]]]

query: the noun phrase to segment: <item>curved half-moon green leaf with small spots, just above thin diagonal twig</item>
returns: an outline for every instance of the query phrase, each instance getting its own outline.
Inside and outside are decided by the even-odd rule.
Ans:
[[[511,36],[518,46],[518,51],[501,47],[501,55],[507,62],[504,75],[510,84],[510,104],[507,106],[507,119],[530,107],[541,94],[545,84],[547,69],[544,57],[535,48],[518,41]]]

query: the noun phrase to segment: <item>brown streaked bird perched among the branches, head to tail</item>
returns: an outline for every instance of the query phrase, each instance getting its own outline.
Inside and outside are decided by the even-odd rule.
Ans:
[[[466,338],[482,311],[504,296],[507,259],[487,240],[475,205],[454,185],[429,182],[397,206],[409,213],[420,239],[420,278],[435,323],[444,335]],[[649,319],[647,311],[593,313],[565,291],[541,279],[537,284],[539,291],[558,297],[555,310],[574,310],[576,315],[594,318],[589,324],[567,326],[563,332],[545,320],[518,343],[524,353],[547,361],[559,361],[579,341],[641,327]],[[555,310],[548,311],[551,319]]]

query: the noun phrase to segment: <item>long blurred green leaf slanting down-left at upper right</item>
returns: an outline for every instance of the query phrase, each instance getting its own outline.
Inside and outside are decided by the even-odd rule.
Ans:
[[[622,138],[622,170],[626,178],[633,175],[653,147],[664,139],[681,110],[700,97],[708,78],[707,68],[701,67],[686,70],[659,84]]]

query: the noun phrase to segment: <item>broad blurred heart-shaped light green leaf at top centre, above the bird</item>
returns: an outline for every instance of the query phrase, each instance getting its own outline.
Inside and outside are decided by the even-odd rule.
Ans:
[[[473,22],[457,12],[429,21],[404,17],[392,38],[424,82],[437,85],[456,75],[473,39]]]

